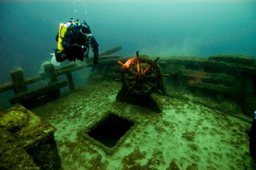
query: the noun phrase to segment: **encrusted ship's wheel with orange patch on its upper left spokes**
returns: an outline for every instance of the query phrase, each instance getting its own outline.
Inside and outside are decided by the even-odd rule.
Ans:
[[[161,86],[163,74],[157,60],[152,61],[149,57],[140,56],[129,59],[126,63],[118,61],[123,67],[121,70],[121,82],[124,90],[132,95],[146,96],[158,90]]]

